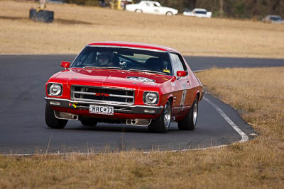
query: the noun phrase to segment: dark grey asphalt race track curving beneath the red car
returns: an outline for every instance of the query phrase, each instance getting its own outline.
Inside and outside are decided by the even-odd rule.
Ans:
[[[0,153],[70,153],[138,149],[143,151],[196,149],[231,144],[242,139],[218,108],[249,138],[255,133],[236,111],[208,94],[200,103],[195,131],[179,131],[172,122],[170,132],[156,134],[147,127],[98,124],[85,127],[69,121],[64,130],[45,125],[45,82],[62,70],[62,60],[75,55],[0,55]],[[278,67],[284,59],[186,57],[192,70],[210,67]],[[211,103],[209,103],[211,102]],[[215,105],[215,107],[213,106]]]

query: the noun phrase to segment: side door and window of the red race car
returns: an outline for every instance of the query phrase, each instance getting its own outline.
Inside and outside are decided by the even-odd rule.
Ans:
[[[170,59],[176,77],[173,84],[175,86],[175,92],[173,94],[173,115],[175,116],[190,108],[190,78],[188,73],[187,76],[177,76],[177,71],[187,71],[187,67],[181,55],[171,52]]]

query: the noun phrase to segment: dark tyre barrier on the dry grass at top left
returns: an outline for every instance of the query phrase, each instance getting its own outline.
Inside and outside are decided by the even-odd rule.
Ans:
[[[35,22],[52,23],[54,18],[54,11],[36,11],[35,9],[30,9],[29,17]]]

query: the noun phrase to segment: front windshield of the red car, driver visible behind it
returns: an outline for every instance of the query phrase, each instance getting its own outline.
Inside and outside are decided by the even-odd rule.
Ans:
[[[72,63],[73,68],[123,69],[173,75],[168,52],[121,47],[85,47]]]

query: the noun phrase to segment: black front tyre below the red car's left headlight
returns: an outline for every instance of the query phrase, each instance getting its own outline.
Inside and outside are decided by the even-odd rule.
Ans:
[[[51,109],[50,105],[45,105],[45,123],[48,127],[53,129],[63,129],[67,124],[68,120],[60,120],[55,117],[54,110]]]

